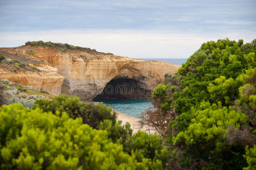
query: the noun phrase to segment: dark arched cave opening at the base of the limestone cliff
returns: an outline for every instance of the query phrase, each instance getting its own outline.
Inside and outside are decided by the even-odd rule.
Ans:
[[[94,100],[149,99],[151,93],[151,90],[145,88],[145,84],[135,79],[116,78],[108,82],[102,93],[96,96]]]

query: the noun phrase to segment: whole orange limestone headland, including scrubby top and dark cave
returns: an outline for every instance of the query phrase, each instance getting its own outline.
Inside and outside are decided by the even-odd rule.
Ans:
[[[147,98],[166,73],[174,74],[181,67],[43,41],[27,42],[17,48],[0,48],[0,54],[5,60],[23,58],[23,62],[30,61],[30,65],[31,61],[37,61],[37,68],[41,70],[15,73],[10,69],[6,73],[1,63],[0,78],[42,88],[52,94],[76,95],[82,100]]]

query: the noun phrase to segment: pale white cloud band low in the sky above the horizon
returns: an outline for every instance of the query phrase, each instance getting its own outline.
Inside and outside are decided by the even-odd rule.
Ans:
[[[210,40],[244,39],[250,42],[256,32],[179,33],[170,31],[133,30],[72,30],[0,32],[0,46],[19,46],[27,41],[62,42],[135,58],[186,58]]]

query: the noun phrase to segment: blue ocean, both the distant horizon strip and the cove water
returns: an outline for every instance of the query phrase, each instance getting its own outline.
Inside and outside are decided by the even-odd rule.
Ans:
[[[154,60],[154,61],[163,61],[169,62],[173,65],[182,65],[187,61],[187,58],[139,58],[143,60]],[[106,100],[100,99],[96,100],[98,102],[103,102],[107,107],[111,107],[116,111],[121,113],[128,114],[133,117],[140,117],[140,114],[146,109],[152,107],[151,100],[147,99],[132,99],[132,100]]]

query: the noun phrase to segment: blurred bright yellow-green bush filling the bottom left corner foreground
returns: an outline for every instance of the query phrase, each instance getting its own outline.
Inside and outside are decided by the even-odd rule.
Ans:
[[[65,113],[11,104],[0,108],[0,125],[0,169],[146,169],[106,131]]]

